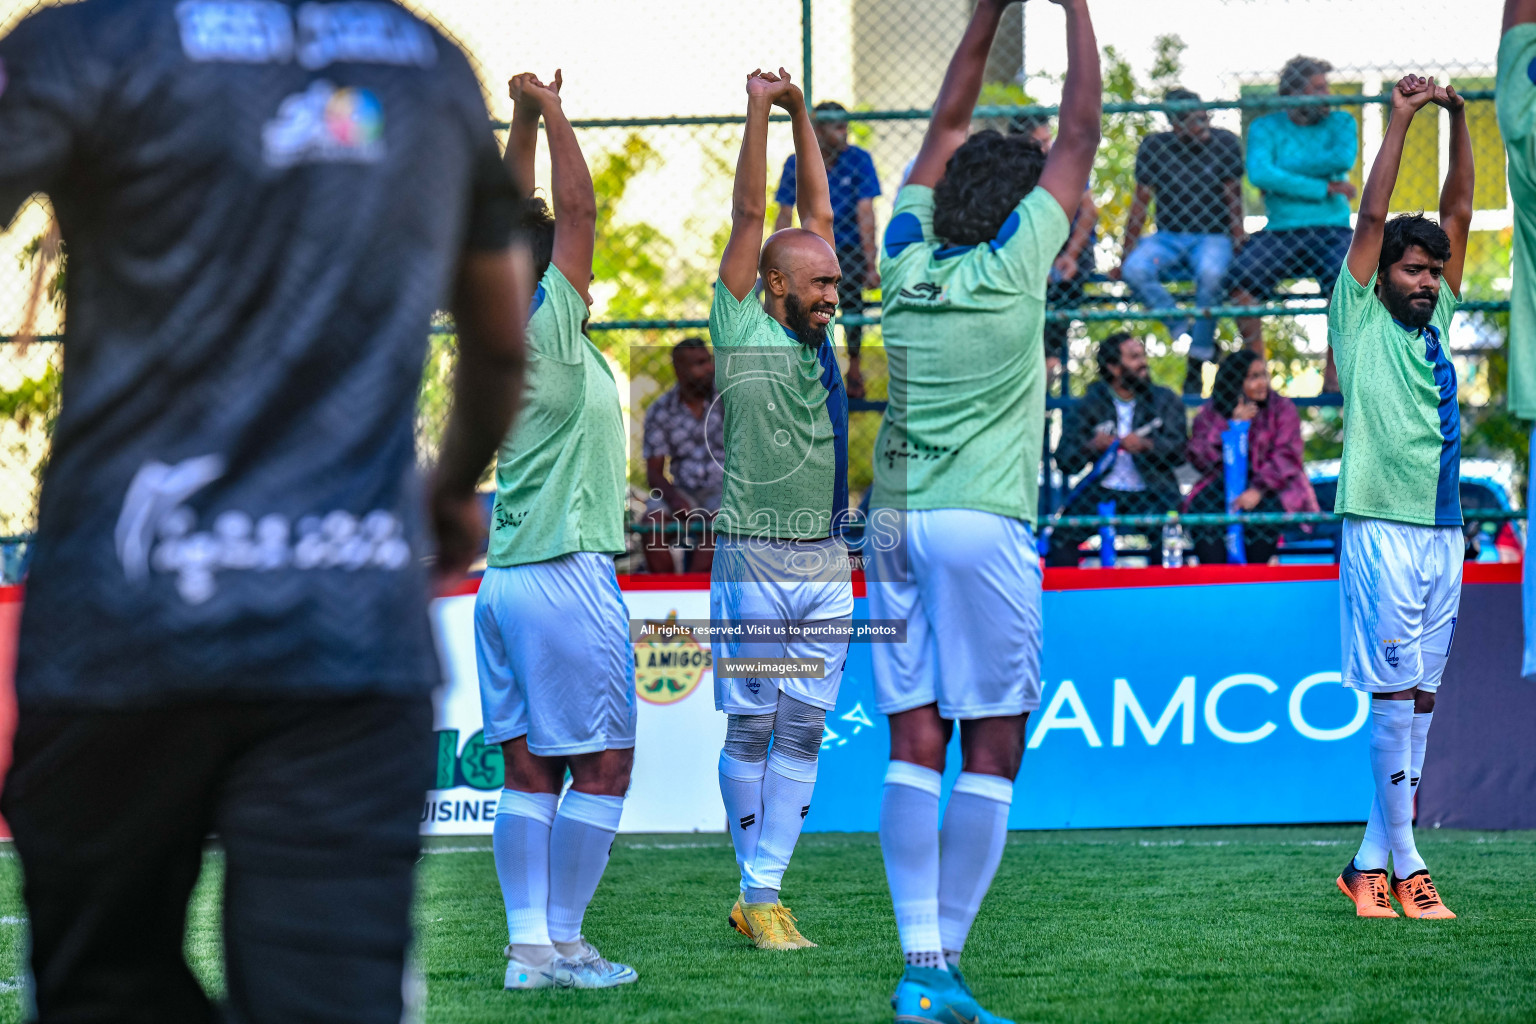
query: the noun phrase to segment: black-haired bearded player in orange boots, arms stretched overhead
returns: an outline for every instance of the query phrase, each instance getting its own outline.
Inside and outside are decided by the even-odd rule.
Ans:
[[[1450,112],[1439,224],[1387,220],[1415,114]],[[1413,843],[1413,789],[1461,606],[1461,410],[1445,338],[1471,227],[1471,137],[1461,97],[1404,77],[1361,195],[1355,238],[1329,302],[1344,395],[1339,596],[1344,685],[1372,694],[1376,800],[1338,887],[1359,917],[1453,918]],[[1387,874],[1387,857],[1392,874]]]

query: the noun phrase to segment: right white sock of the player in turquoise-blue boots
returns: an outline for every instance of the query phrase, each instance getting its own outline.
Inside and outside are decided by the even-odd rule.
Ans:
[[[958,966],[960,950],[1008,841],[1008,806],[1014,783],[1001,775],[962,772],[945,808],[938,834],[938,938],[945,960]]]

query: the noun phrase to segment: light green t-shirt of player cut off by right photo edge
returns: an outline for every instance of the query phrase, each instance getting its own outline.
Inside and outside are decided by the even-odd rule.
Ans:
[[[1508,402],[1521,419],[1536,419],[1536,25],[1516,25],[1499,41],[1496,95],[1514,200]]]

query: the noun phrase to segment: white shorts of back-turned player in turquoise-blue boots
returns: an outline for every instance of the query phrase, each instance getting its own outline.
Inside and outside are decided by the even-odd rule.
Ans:
[[[874,643],[882,714],[938,705],[945,718],[1040,706],[1040,554],[1029,527],[972,508],[900,516],[866,557],[869,617],[905,619],[906,643]]]

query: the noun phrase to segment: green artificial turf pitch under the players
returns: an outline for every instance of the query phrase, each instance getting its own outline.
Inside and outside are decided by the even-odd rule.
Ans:
[[[1358,826],[1014,832],[971,933],[977,995],[1018,1021],[1536,1021],[1536,834],[1421,832],[1456,921],[1361,921],[1333,887]],[[187,947],[218,989],[218,858]],[[725,837],[627,835],[587,935],[641,981],[502,992],[505,924],[482,838],[432,840],[418,961],[432,1024],[882,1021],[900,973],[872,835],[806,835],[785,901],[820,949],[725,924]],[[25,910],[0,858],[0,1021],[20,1018]],[[421,986],[418,986],[419,989]]]

